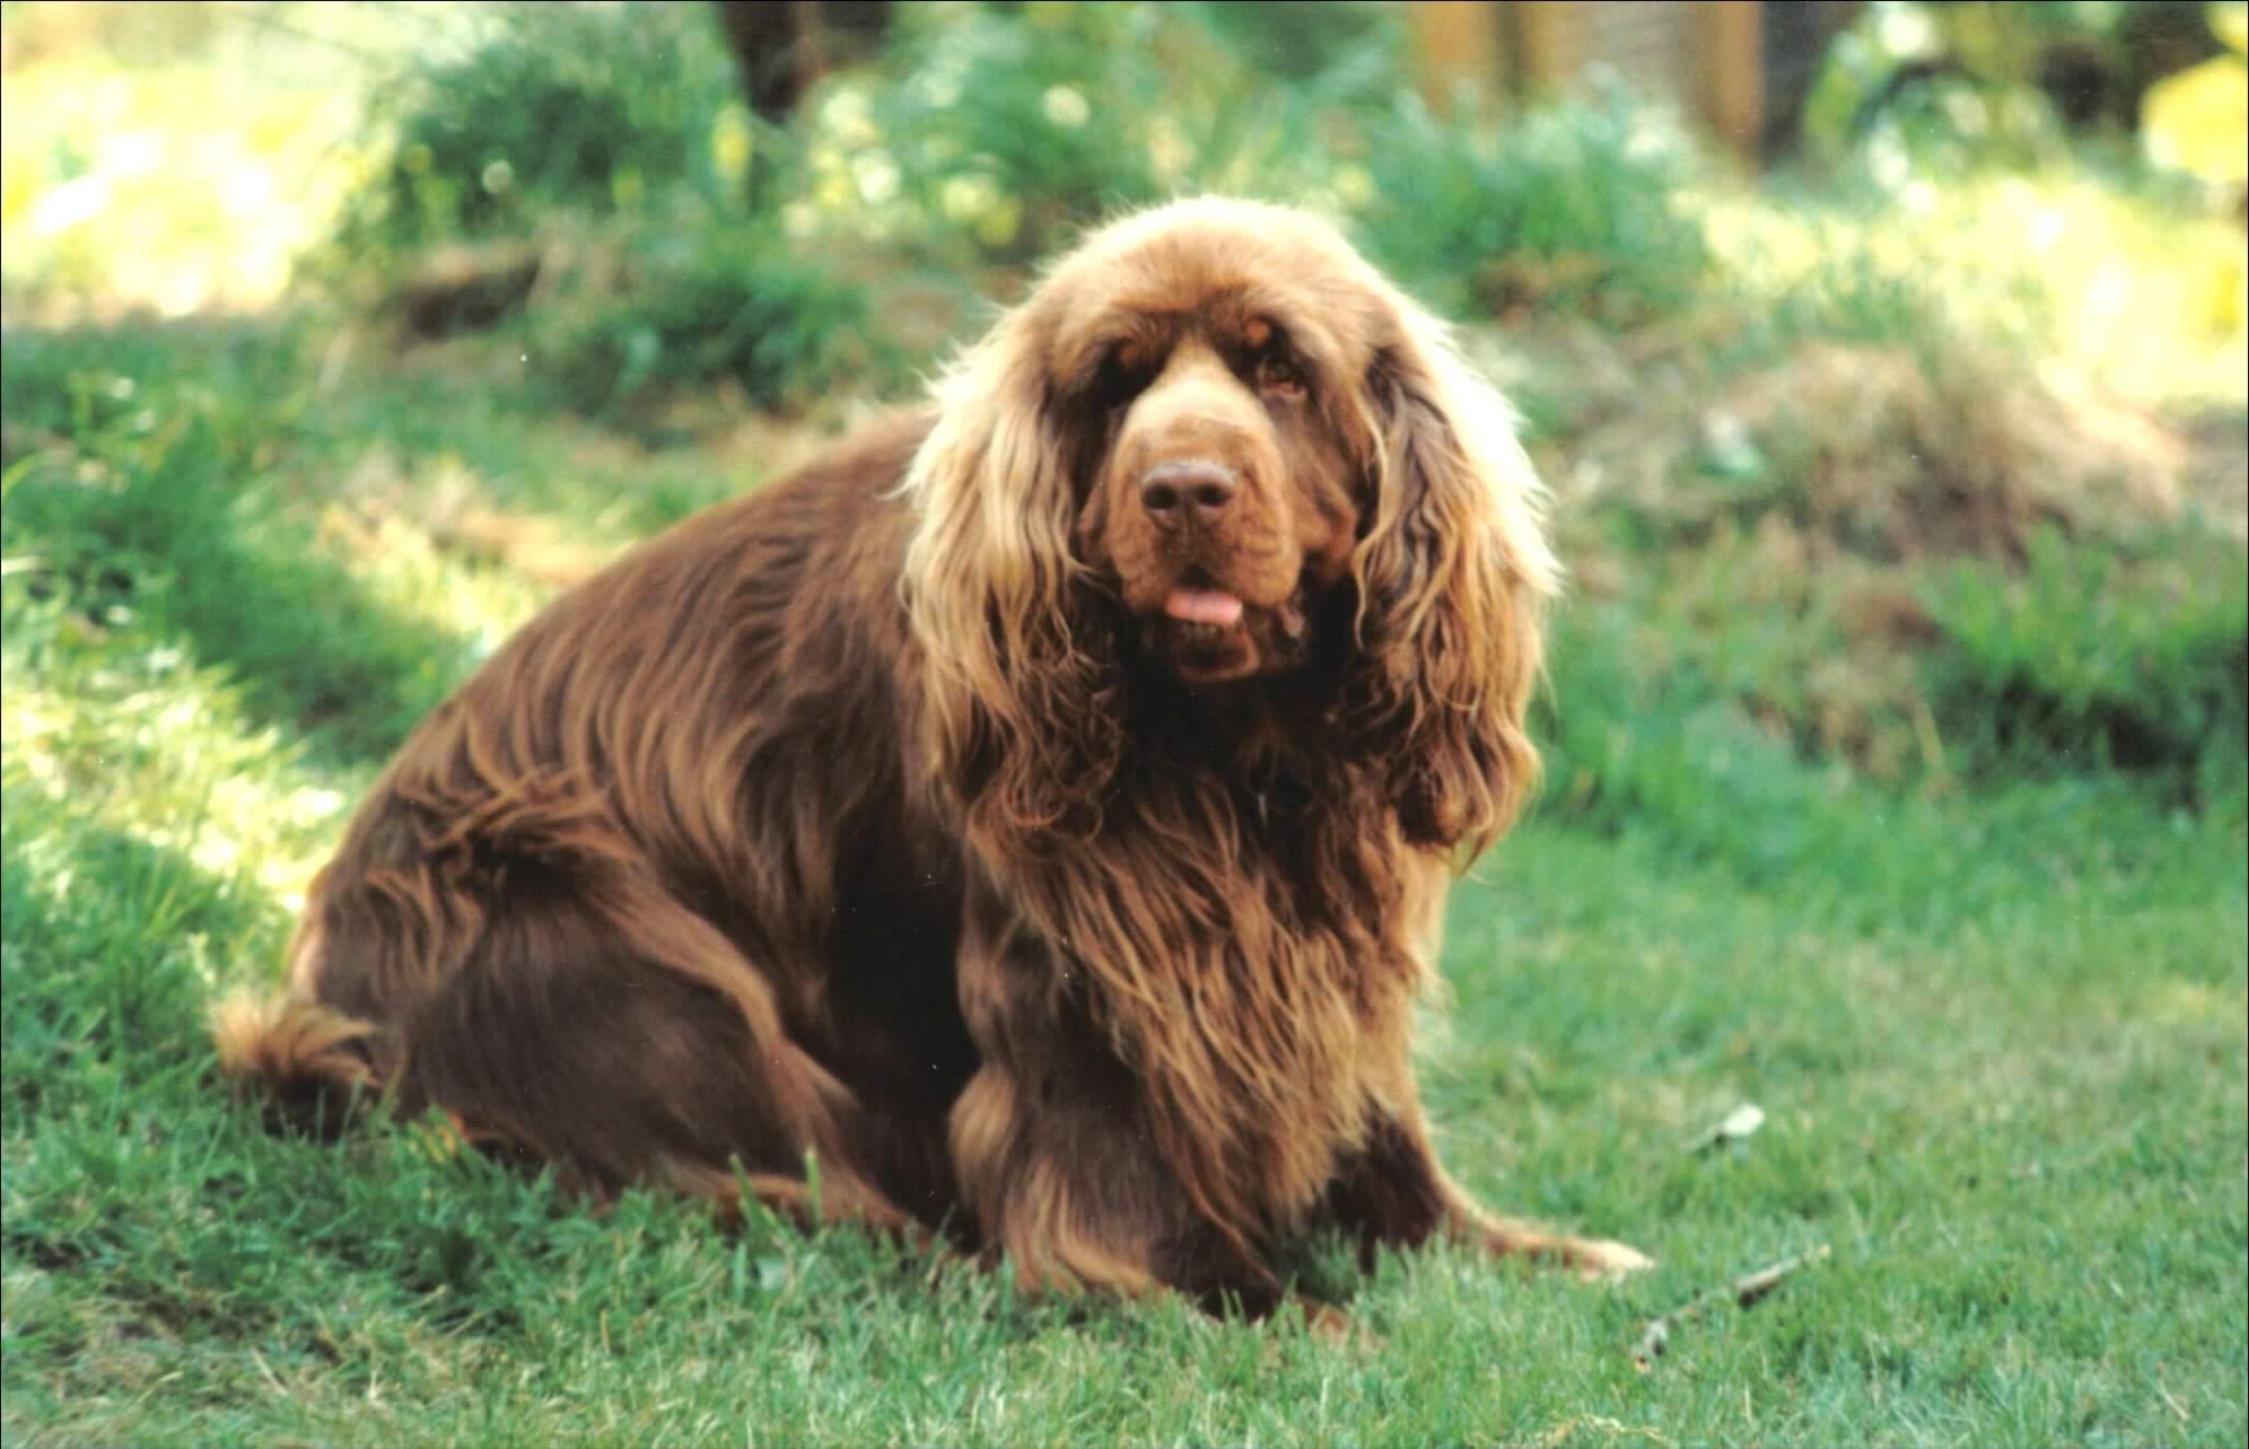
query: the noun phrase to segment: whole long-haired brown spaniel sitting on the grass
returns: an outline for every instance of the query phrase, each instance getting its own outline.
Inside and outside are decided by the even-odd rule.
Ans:
[[[1552,583],[1507,407],[1336,232],[1131,216],[495,655],[223,1062],[594,1195],[803,1210],[814,1159],[1035,1285],[1262,1312],[1320,1226],[1635,1267],[1469,1202],[1410,1062]]]

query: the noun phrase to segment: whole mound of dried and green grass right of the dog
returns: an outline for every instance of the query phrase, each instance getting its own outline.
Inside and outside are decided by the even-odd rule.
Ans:
[[[1640,356],[1570,342],[1525,371],[1581,423],[1541,461],[1577,596],[1624,601],[1664,641],[1635,675],[1876,778],[1948,778],[2033,738],[2191,754],[2116,745],[2065,675],[2141,608],[2125,601],[2204,567],[2164,542],[2182,524],[2240,536],[2242,470],[2220,439],[1988,349],[1813,340],[1723,378],[1723,351],[1689,333]],[[2053,558],[2078,560],[2089,596],[2029,587]],[[2195,659],[2173,670],[2182,711],[2224,716]],[[2166,682],[2101,688],[2170,698]]]

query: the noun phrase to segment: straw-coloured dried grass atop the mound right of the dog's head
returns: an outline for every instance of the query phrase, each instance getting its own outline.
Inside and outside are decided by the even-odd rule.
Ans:
[[[1572,389],[1577,436],[1541,457],[1565,538],[1613,502],[1691,538],[1779,515],[1815,560],[2017,565],[2042,524],[2130,536],[2188,504],[2240,513],[2211,482],[2209,448],[1997,351],[1817,340],[1725,380],[1696,349],[1693,335],[1655,349],[1541,338],[1541,367],[1516,369]]]

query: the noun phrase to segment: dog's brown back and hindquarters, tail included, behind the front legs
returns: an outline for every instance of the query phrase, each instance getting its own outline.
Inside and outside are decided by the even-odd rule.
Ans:
[[[508,641],[322,871],[288,997],[220,1008],[223,1069],[299,1120],[434,1105],[596,1192],[724,1195],[731,1163],[796,1179],[810,1150],[828,1195],[940,1220],[972,1048],[958,864],[897,745],[888,497],[924,425],[679,524]]]

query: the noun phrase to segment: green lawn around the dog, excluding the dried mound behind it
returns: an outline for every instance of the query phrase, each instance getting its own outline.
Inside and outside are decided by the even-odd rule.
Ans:
[[[1741,630],[1792,628],[1741,621],[1738,594],[1637,623],[1646,598],[1565,612],[1556,774],[1455,898],[1455,1001],[1424,1069],[1478,1195],[1662,1260],[1624,1287],[1457,1251],[1361,1280],[1313,1256],[1367,1334],[1334,1346],[1169,1300],[1026,1305],[1005,1276],[933,1274],[852,1231],[724,1233],[659,1195],[596,1217],[414,1125],[268,1136],[214,1082],[205,1008],[270,979],[398,731],[551,590],[432,520],[466,495],[598,554],[758,477],[443,369],[324,387],[313,342],[9,340],[9,1442],[2249,1429],[2236,796],[2182,806],[2092,758],[1871,783],[1752,724],[1741,682],[1702,668],[1752,648]],[[2031,603],[2060,596],[2056,628],[2105,619],[2060,567],[2022,574]],[[2168,608],[2101,580],[2103,608]],[[1952,587],[1959,610],[1979,598]],[[2195,637],[2227,639],[2222,614],[2195,612]],[[2038,614],[1963,630],[1957,664],[2060,677],[2074,655],[2006,616]],[[2148,619],[2116,626],[2146,644],[2132,668],[2204,677]],[[2137,684],[2116,664],[2087,688]],[[1738,1102],[1763,1132],[1682,1150]],[[1815,1244],[1833,1258],[1635,1370],[1646,1318]]]

